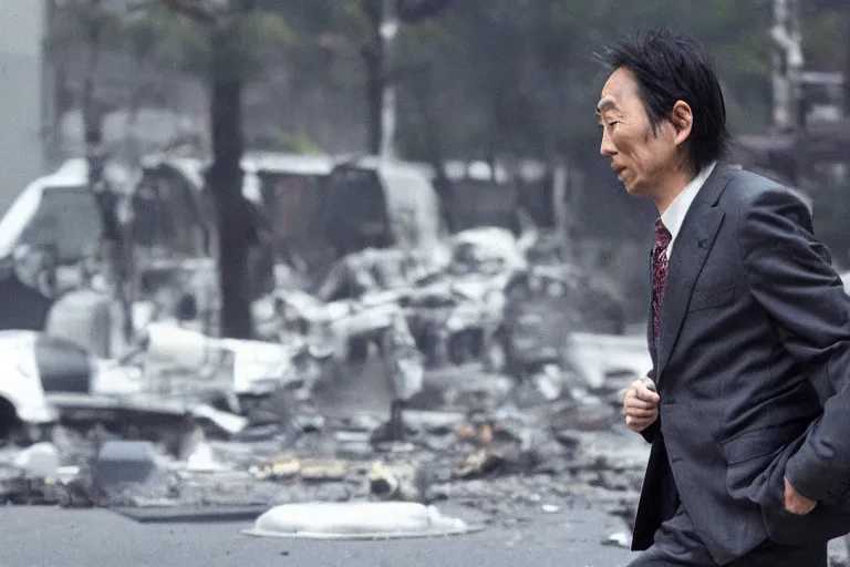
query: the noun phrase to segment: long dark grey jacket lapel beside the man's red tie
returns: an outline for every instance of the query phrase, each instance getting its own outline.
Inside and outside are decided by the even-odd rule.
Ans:
[[[678,340],[694,284],[723,224],[724,213],[717,207],[717,200],[732,179],[732,175],[733,169],[729,167],[718,165],[715,168],[691,204],[682,229],[673,244],[667,269],[667,286],[661,306],[656,372],[659,380]]]

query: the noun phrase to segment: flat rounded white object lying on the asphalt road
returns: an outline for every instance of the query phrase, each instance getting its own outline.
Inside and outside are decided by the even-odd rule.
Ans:
[[[478,532],[434,506],[411,502],[284,504],[257,518],[246,535],[312,539],[386,539]]]

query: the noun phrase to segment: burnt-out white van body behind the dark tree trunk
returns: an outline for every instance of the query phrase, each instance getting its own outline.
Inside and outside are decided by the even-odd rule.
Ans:
[[[324,279],[335,260],[370,247],[437,249],[445,230],[426,172],[374,157],[334,164],[326,155],[243,156],[242,196],[266,235],[249,252],[257,297],[273,288],[274,261],[312,284]],[[139,217],[137,231],[179,231],[182,248],[197,250],[200,243],[204,254],[212,254],[215,227],[203,190],[205,169],[203,159],[146,157],[135,207],[142,209],[141,196],[149,194],[144,207],[149,214],[146,221]],[[160,247],[167,246],[168,238],[156,238]]]

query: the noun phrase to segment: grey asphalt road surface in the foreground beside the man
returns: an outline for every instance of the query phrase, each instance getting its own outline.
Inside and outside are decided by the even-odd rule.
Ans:
[[[476,519],[465,511],[443,512]],[[623,524],[595,511],[541,512],[516,528],[431,539],[272,539],[242,535],[248,527],[138,524],[104,509],[4,506],[0,567],[616,567],[632,557],[602,545]]]

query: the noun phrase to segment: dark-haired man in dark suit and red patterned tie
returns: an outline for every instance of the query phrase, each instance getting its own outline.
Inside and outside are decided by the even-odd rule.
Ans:
[[[653,371],[623,402],[652,451],[633,566],[826,566],[850,532],[850,298],[791,192],[724,165],[711,58],[610,48],[601,153],[657,207]]]

